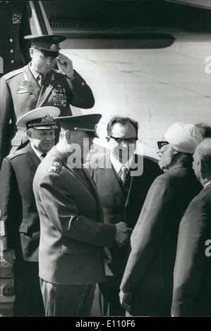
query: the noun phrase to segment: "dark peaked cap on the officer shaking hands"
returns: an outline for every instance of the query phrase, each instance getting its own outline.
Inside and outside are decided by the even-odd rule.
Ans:
[[[99,138],[97,135],[97,123],[102,118],[101,114],[89,114],[79,116],[62,116],[54,118],[65,130],[84,131],[89,135]]]

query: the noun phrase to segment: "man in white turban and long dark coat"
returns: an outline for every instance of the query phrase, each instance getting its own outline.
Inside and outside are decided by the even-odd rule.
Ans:
[[[192,154],[203,137],[194,125],[174,123],[159,142],[160,168],[131,235],[121,281],[121,304],[133,316],[170,316],[179,223],[201,185]]]

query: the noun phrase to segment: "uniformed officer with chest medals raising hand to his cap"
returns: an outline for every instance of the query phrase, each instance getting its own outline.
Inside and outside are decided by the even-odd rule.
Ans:
[[[16,150],[28,142],[23,130],[16,127],[16,118],[24,113],[42,106],[56,106],[61,116],[67,116],[72,115],[70,104],[80,108],[92,108],[95,104],[90,87],[73,70],[72,61],[59,54],[59,42],[66,37],[44,35],[25,39],[32,42],[31,63],[1,77],[0,161],[11,146]],[[59,70],[54,69],[55,63]]]

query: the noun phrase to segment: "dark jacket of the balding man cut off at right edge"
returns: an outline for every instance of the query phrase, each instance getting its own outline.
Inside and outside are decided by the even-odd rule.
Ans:
[[[211,185],[191,201],[179,226],[174,316],[211,316]]]

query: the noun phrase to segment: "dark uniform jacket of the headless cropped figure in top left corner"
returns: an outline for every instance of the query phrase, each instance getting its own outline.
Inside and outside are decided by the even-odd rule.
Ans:
[[[0,56],[4,61],[0,77],[30,62],[26,35],[31,35],[28,1],[0,1]]]

